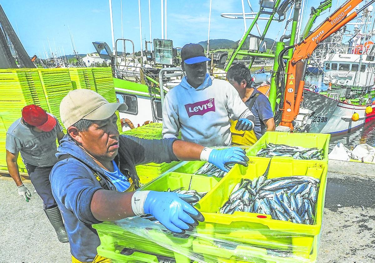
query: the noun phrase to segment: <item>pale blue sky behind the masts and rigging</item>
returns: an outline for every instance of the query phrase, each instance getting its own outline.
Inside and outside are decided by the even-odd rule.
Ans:
[[[338,0],[340,1],[340,0]],[[249,6],[245,0],[245,11]],[[250,1],[254,10],[259,9],[259,1]],[[308,20],[311,6],[320,1],[308,1],[305,23]],[[333,0],[331,13],[335,10],[337,0]],[[124,38],[132,39],[135,50],[140,50],[138,1],[122,0]],[[174,47],[182,47],[189,42],[207,40],[209,0],[168,0],[167,23],[168,38],[173,40]],[[93,41],[105,41],[112,46],[110,12],[108,0],[0,0],[16,33],[20,36],[29,56],[43,53],[43,44],[49,49],[48,40],[53,42],[66,54],[72,54],[70,28],[79,53],[95,51]],[[121,38],[120,0],[112,0],[115,39]],[[243,35],[243,20],[220,17],[223,12],[242,12],[241,0],[212,0],[210,39],[238,40]],[[149,39],[148,0],[141,0],[142,38]],[[320,23],[328,12],[318,20]],[[247,24],[251,20],[247,20]],[[264,23],[260,23],[262,29]],[[316,24],[318,25],[318,24]],[[267,37],[276,38],[281,23],[273,22]],[[160,0],[151,0],[152,38],[161,38]],[[256,33],[253,30],[252,33]],[[278,38],[282,35],[279,34]],[[130,46],[127,47],[130,51]]]

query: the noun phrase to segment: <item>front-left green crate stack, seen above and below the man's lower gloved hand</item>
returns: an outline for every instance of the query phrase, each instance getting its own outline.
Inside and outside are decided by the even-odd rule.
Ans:
[[[215,177],[170,172],[145,184],[139,190],[164,192],[168,189],[175,190],[183,187],[184,190],[193,189],[197,192],[208,192],[218,181],[219,178]],[[148,239],[145,239],[121,227],[121,220],[104,222],[93,225],[93,227],[98,231],[101,240],[97,251],[98,255],[102,257],[118,262],[162,262],[165,258],[161,257],[168,257],[167,261],[176,263],[191,262],[186,255],[192,253],[193,236],[177,237],[170,232],[149,230],[147,231]],[[157,242],[155,243],[155,241]],[[158,242],[175,246],[180,253],[171,251],[159,245]],[[129,251],[130,253],[126,253]]]

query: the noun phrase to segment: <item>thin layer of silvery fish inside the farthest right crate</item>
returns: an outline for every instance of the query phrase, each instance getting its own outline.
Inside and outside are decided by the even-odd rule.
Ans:
[[[257,156],[273,157],[287,156],[299,160],[323,160],[323,149],[303,148],[299,146],[288,146],[284,144],[266,144],[266,148],[258,151]]]

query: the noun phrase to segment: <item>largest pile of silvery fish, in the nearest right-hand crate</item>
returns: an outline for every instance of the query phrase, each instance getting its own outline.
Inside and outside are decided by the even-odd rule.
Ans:
[[[231,192],[220,213],[236,211],[271,215],[272,219],[314,224],[320,180],[309,176],[278,177],[267,174],[242,179]]]

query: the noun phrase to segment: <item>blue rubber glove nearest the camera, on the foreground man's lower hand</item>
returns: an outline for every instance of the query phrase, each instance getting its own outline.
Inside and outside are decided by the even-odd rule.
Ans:
[[[197,196],[150,191],[143,208],[145,214],[153,215],[169,230],[184,234],[185,230],[193,230],[198,221],[204,221],[203,215],[189,204],[197,201]]]

